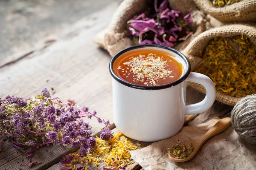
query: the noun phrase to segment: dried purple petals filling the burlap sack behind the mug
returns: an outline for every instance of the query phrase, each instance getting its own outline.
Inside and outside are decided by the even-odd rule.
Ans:
[[[147,17],[144,13],[128,20],[129,34],[134,44],[159,44],[173,47],[193,34],[189,24],[191,15],[181,17],[180,11],[168,8],[168,0],[154,0],[154,11]]]

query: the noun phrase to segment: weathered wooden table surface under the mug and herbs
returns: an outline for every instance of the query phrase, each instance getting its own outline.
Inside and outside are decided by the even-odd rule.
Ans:
[[[45,2],[49,4],[38,5],[36,3],[41,1],[35,0],[32,7],[31,4],[28,7],[28,2],[21,0],[18,3],[23,3],[25,12],[23,8],[10,11],[9,5],[13,4],[0,2],[0,12],[5,14],[0,19],[3,28],[0,31],[3,45],[0,48],[0,97],[8,94],[33,96],[45,87],[54,88],[54,96],[75,99],[79,105],[88,105],[91,111],[97,110],[102,119],[113,123],[111,76],[108,72],[111,57],[92,40],[107,27],[121,0],[63,1],[47,0]],[[25,30],[25,33],[19,30]],[[190,87],[187,93],[187,104],[204,98]],[[225,117],[230,110],[230,106],[215,102],[209,111],[187,116],[184,125],[200,124],[215,116]],[[94,136],[103,127],[95,119],[90,120],[90,125]],[[118,131],[114,124],[110,128],[115,133]],[[32,157],[40,164],[29,168],[29,159],[26,158],[29,149],[17,150],[8,141],[4,141],[0,153],[0,170],[58,170],[60,158],[74,151],[60,145],[41,147]],[[140,143],[141,147],[150,144]],[[141,167],[134,163],[128,169],[140,170]]]

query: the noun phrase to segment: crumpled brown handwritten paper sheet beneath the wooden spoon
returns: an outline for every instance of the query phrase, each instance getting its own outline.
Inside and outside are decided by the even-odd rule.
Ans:
[[[175,136],[131,151],[131,157],[145,170],[256,170],[256,145],[247,144],[232,125],[207,140],[186,162],[174,162],[166,156],[169,147],[197,139],[209,130],[218,118],[206,123],[183,127]]]

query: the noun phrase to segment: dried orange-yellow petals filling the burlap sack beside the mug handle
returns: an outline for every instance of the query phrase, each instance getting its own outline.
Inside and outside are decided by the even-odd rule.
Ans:
[[[215,37],[195,72],[207,75],[216,90],[233,97],[256,93],[256,45],[245,37]]]

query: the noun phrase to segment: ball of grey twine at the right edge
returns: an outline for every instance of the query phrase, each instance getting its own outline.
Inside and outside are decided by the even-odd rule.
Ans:
[[[242,139],[256,144],[256,94],[237,102],[231,112],[231,123]]]

